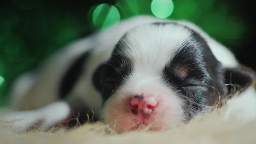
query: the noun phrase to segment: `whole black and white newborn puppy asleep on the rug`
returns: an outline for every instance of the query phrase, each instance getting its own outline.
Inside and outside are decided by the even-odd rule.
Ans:
[[[253,81],[251,70],[195,25],[137,16],[22,75],[11,92],[22,111],[8,118],[22,118],[15,122],[22,130],[98,119],[118,132],[167,129],[221,106]]]

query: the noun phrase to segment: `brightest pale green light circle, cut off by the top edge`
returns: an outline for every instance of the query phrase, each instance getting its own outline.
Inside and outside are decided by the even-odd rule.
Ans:
[[[162,19],[170,16],[173,8],[172,0],[153,0],[151,3],[152,13]]]

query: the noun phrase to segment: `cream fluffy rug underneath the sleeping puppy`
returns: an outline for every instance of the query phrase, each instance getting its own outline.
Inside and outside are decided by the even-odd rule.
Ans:
[[[248,91],[254,91],[253,88]],[[224,107],[200,115],[188,124],[167,131],[117,134],[103,123],[65,130],[19,133],[11,122],[0,121],[0,143],[256,143],[256,95],[245,92]]]

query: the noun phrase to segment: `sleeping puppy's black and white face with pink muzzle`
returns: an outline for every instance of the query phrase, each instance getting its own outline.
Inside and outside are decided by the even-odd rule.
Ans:
[[[174,127],[228,93],[222,64],[206,41],[178,23],[127,32],[94,74],[101,118],[117,131]]]

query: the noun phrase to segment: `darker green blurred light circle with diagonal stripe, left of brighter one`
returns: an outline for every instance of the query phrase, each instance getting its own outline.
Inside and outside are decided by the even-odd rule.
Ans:
[[[96,27],[104,29],[113,23],[120,21],[120,14],[117,8],[109,4],[98,5],[92,13],[92,22]]]

